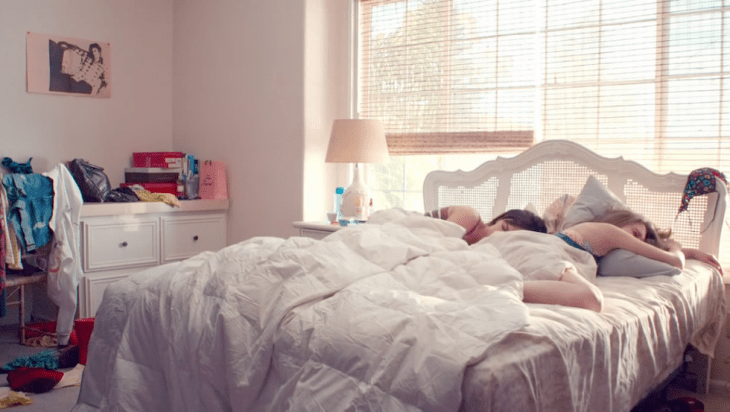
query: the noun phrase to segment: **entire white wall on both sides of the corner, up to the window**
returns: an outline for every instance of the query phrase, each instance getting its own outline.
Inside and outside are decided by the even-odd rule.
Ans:
[[[0,156],[36,172],[85,158],[115,187],[135,151],[224,160],[229,243],[293,235],[348,182],[324,152],[349,115],[350,4],[0,0]],[[111,99],[27,93],[28,31],[111,43]]]

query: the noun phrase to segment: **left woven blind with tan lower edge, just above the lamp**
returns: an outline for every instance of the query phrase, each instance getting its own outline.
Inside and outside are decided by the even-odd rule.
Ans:
[[[510,7],[519,4],[513,0]],[[494,39],[485,38],[472,14],[488,10],[467,6],[465,14],[452,1],[360,3],[358,111],[383,121],[391,154],[532,145],[532,80],[523,77],[525,70],[499,85],[496,77],[500,65],[521,66],[523,59],[509,60],[517,49],[495,54]]]

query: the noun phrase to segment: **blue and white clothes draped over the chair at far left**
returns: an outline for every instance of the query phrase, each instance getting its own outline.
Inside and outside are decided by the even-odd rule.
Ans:
[[[0,185],[0,316],[4,315],[5,273],[48,273],[48,296],[58,306],[58,344],[67,345],[76,315],[79,224],[83,198],[65,165],[36,174],[30,165],[6,157],[10,172]]]

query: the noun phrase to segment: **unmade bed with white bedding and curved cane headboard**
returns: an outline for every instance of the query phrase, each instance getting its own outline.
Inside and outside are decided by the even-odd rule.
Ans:
[[[686,182],[548,141],[472,172],[433,172],[424,200],[489,219],[554,212],[572,196],[546,215],[562,222],[586,199],[621,202],[718,254],[727,189],[718,182],[678,215]],[[389,209],[322,240],[253,238],[114,283],[73,411],[628,411],[688,345],[714,350],[725,296],[708,266],[599,276],[594,313],[523,303],[500,245],[462,235]]]

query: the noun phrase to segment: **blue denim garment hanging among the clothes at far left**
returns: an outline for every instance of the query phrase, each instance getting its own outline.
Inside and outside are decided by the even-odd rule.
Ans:
[[[53,215],[53,181],[40,174],[3,176],[13,226],[22,250],[32,252],[51,240],[48,222]]]

